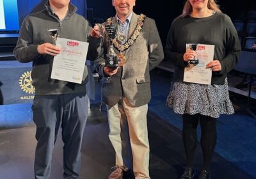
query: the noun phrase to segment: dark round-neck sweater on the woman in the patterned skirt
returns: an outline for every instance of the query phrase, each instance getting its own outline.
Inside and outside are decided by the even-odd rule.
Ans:
[[[215,45],[214,59],[220,60],[221,71],[212,72],[212,84],[224,84],[227,73],[237,62],[241,45],[230,18],[223,13],[210,17],[178,17],[173,20],[166,40],[165,58],[175,64],[174,82],[182,82],[184,76],[183,55],[186,43]]]

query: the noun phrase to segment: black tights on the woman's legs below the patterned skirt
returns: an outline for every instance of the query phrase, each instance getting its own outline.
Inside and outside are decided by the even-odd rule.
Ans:
[[[212,153],[217,140],[216,118],[202,116],[201,114],[183,114],[182,137],[187,158],[187,167],[193,166],[193,159],[196,150],[197,135],[196,127],[200,121],[201,126],[201,147],[204,157],[203,169],[210,170]]]

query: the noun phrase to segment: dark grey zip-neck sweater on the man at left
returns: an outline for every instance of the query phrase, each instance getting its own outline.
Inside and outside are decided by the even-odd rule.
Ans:
[[[49,3],[46,3],[45,10],[29,15],[22,23],[19,40],[13,52],[17,60],[22,63],[33,61],[31,77],[36,95],[86,93],[85,84],[88,81],[86,66],[84,68],[82,84],[51,79],[53,56],[47,54],[40,55],[37,51],[38,45],[45,42],[52,43],[51,37],[47,34],[47,29],[60,28],[58,36],[61,38],[90,43],[88,55],[91,60],[99,56],[100,39],[90,36],[92,27],[88,20],[75,13],[76,10],[76,6],[69,4],[67,16],[65,19],[59,20],[52,13]]]

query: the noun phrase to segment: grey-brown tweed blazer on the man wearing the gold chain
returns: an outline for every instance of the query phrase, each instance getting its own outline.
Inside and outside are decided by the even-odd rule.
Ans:
[[[137,25],[138,17],[139,15],[132,13],[128,39]],[[116,23],[116,17],[112,21]],[[95,69],[100,75],[106,76],[103,68],[109,43],[103,39],[101,43],[102,56],[95,60]],[[118,53],[118,50],[115,49],[115,52]],[[163,46],[156,23],[146,17],[137,40],[125,51],[125,65],[108,81],[103,82],[102,101],[113,106],[125,96],[134,107],[147,104],[151,98],[149,72],[159,65],[163,58]]]

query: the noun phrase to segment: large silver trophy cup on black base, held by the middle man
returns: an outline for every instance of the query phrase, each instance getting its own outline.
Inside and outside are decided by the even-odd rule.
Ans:
[[[106,22],[104,26],[102,24],[96,24],[100,27],[100,34],[103,38],[109,40],[109,47],[105,58],[105,66],[110,68],[116,68],[118,65],[118,55],[114,51],[113,40],[116,38],[116,34],[118,31],[118,24],[113,24],[113,22]]]

